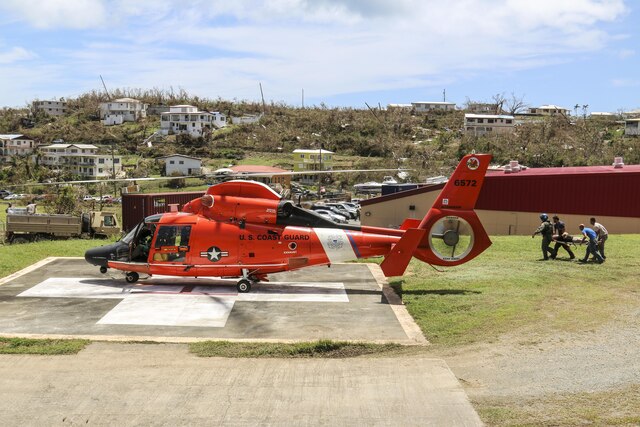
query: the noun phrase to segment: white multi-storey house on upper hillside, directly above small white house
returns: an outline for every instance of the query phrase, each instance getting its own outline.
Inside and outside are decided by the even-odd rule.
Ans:
[[[164,135],[185,133],[199,137],[226,125],[227,117],[224,114],[198,111],[193,105],[172,105],[168,113],[160,114],[160,132]]]

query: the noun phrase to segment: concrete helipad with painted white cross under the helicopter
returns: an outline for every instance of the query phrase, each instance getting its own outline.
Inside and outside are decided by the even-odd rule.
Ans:
[[[388,303],[375,268],[336,264],[279,273],[238,294],[235,280],[154,276],[131,285],[82,259],[49,260],[0,286],[0,334],[425,342],[415,324],[407,327],[412,321],[398,321],[404,307]]]

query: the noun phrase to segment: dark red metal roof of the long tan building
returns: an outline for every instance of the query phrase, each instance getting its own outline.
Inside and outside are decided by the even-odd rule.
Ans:
[[[361,205],[440,191],[442,184],[363,200]],[[489,171],[477,209],[640,217],[640,165]]]

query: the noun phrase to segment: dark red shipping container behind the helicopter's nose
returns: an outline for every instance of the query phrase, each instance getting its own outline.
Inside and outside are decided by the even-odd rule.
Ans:
[[[122,227],[129,231],[149,215],[169,212],[170,205],[178,205],[178,210],[198,197],[204,191],[177,193],[134,193],[122,195]]]

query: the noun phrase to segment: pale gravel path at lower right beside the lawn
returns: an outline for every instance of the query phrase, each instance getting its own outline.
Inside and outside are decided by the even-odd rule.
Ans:
[[[636,425],[640,419],[640,398],[629,401],[619,396],[640,388],[638,306],[594,330],[551,335],[519,331],[496,342],[438,355],[464,385],[485,420],[500,407],[518,421],[529,417],[534,423],[589,422],[580,414],[570,414],[575,412],[571,406],[579,404],[607,412],[594,415],[596,424],[598,420],[603,424],[622,420],[622,424]],[[607,421],[611,414],[614,418]],[[506,418],[508,424],[509,416]],[[500,418],[495,421],[501,424]]]

